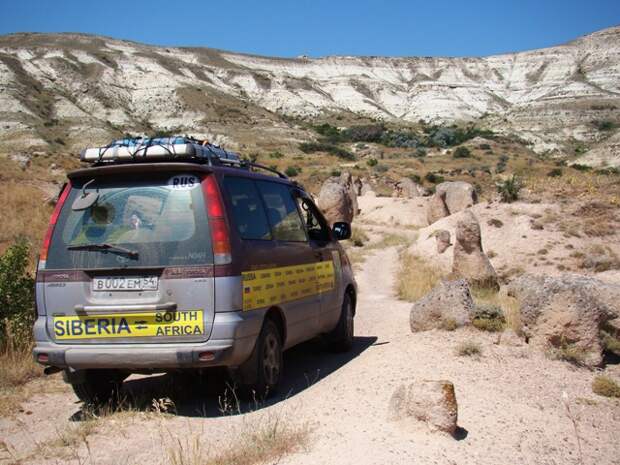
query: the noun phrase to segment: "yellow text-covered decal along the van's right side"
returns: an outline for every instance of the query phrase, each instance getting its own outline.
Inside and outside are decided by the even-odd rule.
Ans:
[[[305,265],[246,271],[243,279],[243,310],[277,305],[327,292],[334,288],[331,260]]]

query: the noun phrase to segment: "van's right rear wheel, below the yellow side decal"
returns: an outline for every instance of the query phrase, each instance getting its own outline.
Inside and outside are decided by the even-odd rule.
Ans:
[[[275,393],[282,378],[282,337],[271,319],[263,324],[250,358],[237,372],[239,394],[249,400],[263,400]]]

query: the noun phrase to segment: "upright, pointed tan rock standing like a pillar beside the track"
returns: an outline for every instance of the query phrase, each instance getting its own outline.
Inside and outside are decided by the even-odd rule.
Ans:
[[[482,250],[480,224],[471,211],[463,212],[456,224],[452,274],[478,287],[499,289],[497,273]]]

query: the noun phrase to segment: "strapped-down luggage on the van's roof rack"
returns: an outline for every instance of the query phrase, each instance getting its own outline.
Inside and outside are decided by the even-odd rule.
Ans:
[[[193,137],[157,137],[118,139],[104,147],[82,150],[80,159],[93,163],[131,161],[169,161],[174,159],[205,160],[209,164],[243,164],[241,156]]]

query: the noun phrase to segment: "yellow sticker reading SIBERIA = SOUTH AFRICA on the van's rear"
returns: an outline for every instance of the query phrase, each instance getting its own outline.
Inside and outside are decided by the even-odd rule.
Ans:
[[[57,340],[201,335],[202,310],[54,317]]]

